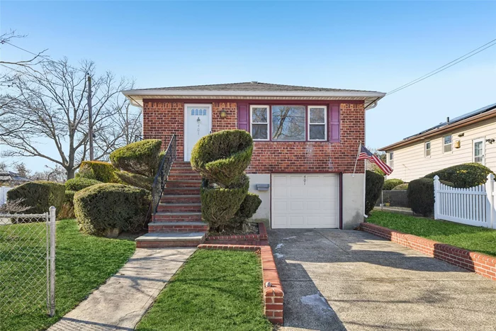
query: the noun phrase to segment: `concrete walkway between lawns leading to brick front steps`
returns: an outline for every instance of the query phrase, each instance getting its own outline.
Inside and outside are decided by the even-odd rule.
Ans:
[[[48,330],[134,330],[167,281],[195,250],[136,249],[115,276]]]

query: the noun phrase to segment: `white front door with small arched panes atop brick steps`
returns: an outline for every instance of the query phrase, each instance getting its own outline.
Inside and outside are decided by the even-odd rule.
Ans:
[[[184,105],[184,161],[191,159],[191,150],[198,139],[212,130],[212,105]]]

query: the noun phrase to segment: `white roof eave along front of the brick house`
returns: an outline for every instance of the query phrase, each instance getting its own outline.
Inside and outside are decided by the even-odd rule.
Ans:
[[[133,106],[142,107],[142,98],[140,96],[294,96],[294,97],[329,97],[329,98],[343,98],[346,97],[363,97],[370,98],[375,105],[375,101],[379,101],[385,96],[381,92],[367,92],[367,91],[184,91],[184,90],[156,90],[156,89],[140,89],[140,90],[126,90],[122,91],[123,94],[130,99]],[[371,103],[371,104],[372,104]],[[373,107],[368,107],[373,108]]]

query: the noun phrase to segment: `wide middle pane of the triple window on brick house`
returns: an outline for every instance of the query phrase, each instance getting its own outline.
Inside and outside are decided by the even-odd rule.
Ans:
[[[272,140],[305,140],[305,106],[272,106]]]

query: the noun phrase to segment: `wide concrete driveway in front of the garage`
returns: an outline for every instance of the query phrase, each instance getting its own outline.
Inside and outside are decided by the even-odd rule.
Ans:
[[[281,330],[496,330],[496,282],[355,230],[270,230]]]

